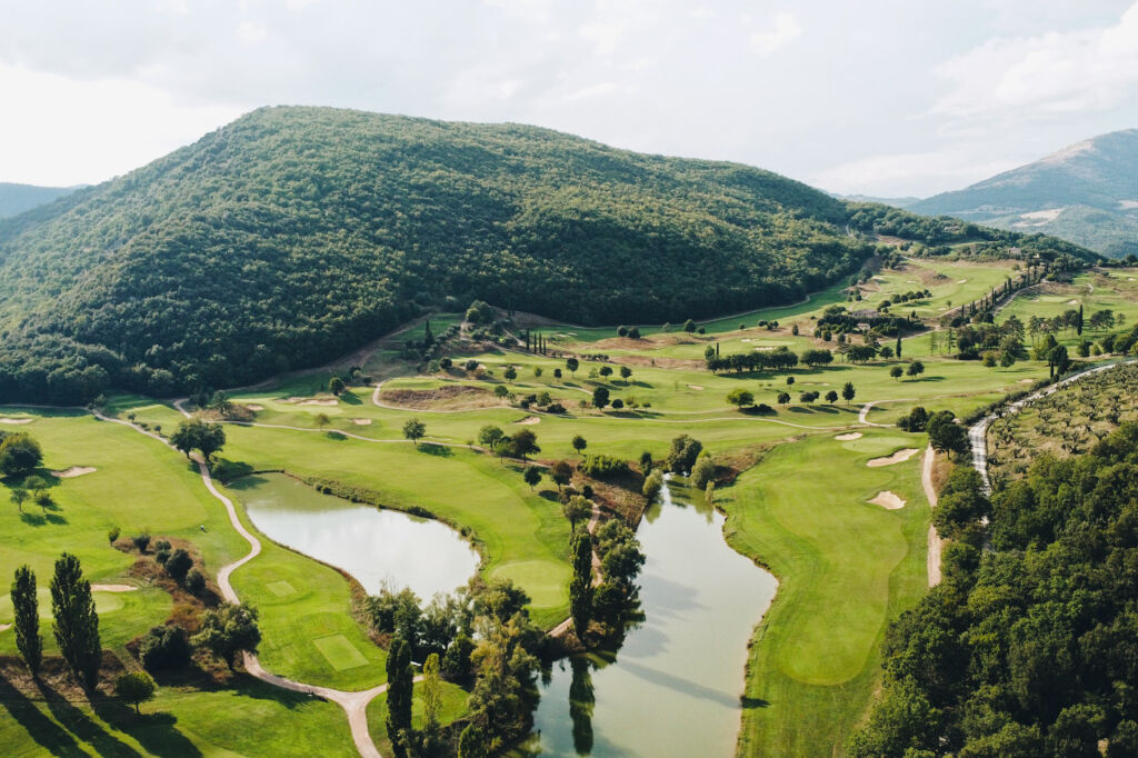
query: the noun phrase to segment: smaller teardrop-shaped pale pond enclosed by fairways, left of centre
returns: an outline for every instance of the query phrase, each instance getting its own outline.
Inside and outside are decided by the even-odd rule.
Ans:
[[[229,487],[264,535],[347,571],[368,594],[387,583],[411,587],[426,602],[465,585],[478,570],[478,553],[440,521],[325,495],[283,473],[244,477]]]

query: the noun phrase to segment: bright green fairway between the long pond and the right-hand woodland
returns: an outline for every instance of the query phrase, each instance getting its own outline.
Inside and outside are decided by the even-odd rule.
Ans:
[[[866,462],[922,445],[890,431],[851,443],[816,435],[776,447],[721,491],[728,543],[780,580],[750,648],[741,755],[841,752],[865,712],[885,625],[925,591],[930,513],[920,458]],[[882,491],[906,506],[866,502]]]

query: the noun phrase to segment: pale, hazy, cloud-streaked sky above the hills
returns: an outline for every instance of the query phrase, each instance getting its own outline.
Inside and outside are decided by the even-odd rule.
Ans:
[[[879,197],[1138,126],[1132,0],[0,0],[0,181],[265,105],[519,122]]]

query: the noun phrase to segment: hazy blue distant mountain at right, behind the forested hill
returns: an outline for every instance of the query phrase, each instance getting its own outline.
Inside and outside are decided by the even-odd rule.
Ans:
[[[1138,254],[1138,129],[1083,140],[907,209],[1054,234],[1108,257]]]

